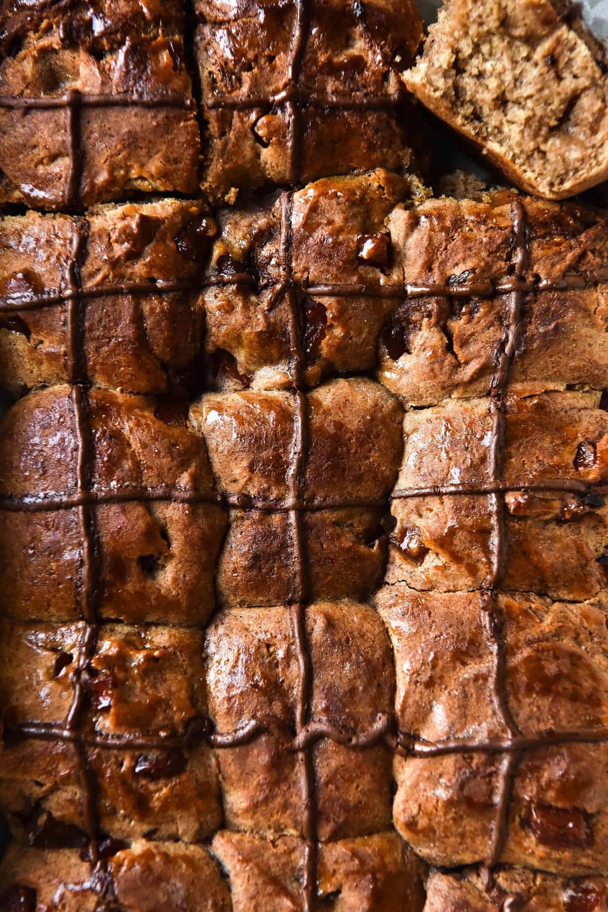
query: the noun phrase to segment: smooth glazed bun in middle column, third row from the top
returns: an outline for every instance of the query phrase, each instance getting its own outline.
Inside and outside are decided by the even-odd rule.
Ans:
[[[365,598],[386,561],[381,504],[397,475],[401,409],[367,378],[314,389],[306,409],[301,515],[308,585],[314,598]],[[292,528],[284,508],[294,411],[293,394],[276,390],[208,393],[192,406],[219,489],[236,507],[218,566],[222,605],[273,605],[294,597]],[[370,421],[374,438],[367,435]],[[270,512],[256,510],[260,503]]]

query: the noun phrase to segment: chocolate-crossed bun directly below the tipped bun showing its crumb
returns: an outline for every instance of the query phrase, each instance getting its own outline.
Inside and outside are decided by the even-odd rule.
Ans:
[[[510,319],[510,295],[496,289],[512,280],[518,201],[528,254],[522,278],[531,291],[508,388],[604,388],[603,215],[492,192],[397,207],[389,216],[392,249],[413,287],[386,320],[378,377],[409,405],[489,393]],[[417,297],[417,288],[443,294]]]

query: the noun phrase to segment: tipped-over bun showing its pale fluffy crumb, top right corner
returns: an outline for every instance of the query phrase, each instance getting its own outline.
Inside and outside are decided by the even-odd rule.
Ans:
[[[448,0],[403,79],[523,190],[563,199],[608,175],[606,52],[573,5]]]

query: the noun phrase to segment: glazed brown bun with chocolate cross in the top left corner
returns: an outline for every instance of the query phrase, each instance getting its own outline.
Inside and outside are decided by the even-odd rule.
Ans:
[[[69,210],[196,189],[199,129],[180,4],[5,7],[2,202]]]

